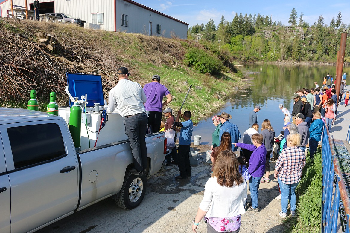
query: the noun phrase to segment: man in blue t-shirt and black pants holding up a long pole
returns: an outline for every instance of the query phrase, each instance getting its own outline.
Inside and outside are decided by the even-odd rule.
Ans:
[[[177,111],[175,119],[175,126],[181,127],[179,138],[179,151],[177,153],[177,166],[179,166],[180,175],[175,176],[176,180],[187,180],[191,177],[191,165],[190,165],[190,147],[191,137],[193,132],[193,123],[191,121],[191,112],[185,111],[183,118],[185,121],[179,122],[181,110]]]

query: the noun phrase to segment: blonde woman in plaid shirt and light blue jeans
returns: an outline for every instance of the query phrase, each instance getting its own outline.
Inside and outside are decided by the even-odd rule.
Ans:
[[[278,156],[275,165],[275,178],[281,189],[281,217],[287,217],[288,200],[290,213],[295,216],[296,196],[295,188],[301,179],[301,170],[305,166],[305,154],[298,148],[301,143],[299,133],[289,134],[287,137],[287,148],[283,149]]]

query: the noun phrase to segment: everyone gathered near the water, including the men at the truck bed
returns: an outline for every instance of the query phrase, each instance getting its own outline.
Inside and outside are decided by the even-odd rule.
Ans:
[[[129,172],[135,175],[146,175],[145,135],[147,131],[154,133],[160,130],[163,112],[166,118],[164,130],[180,132],[178,150],[175,147],[167,155],[167,165],[177,164],[180,175],[175,176],[175,179],[187,180],[191,177],[189,161],[193,132],[191,112],[184,111],[183,121],[180,122],[181,110],[177,111],[176,118],[173,116],[172,109],[162,110],[172,101],[172,95],[160,83],[159,75],[154,75],[152,82],[142,88],[138,83],[128,79],[130,74],[126,67],[120,67],[117,72],[119,82],[110,90],[107,112],[118,109],[119,114],[125,118],[125,134],[129,138],[134,156],[134,167]],[[205,184],[203,201],[194,219],[192,226],[194,232],[203,217],[207,223],[207,232],[239,232],[241,214],[245,210],[260,211],[259,185],[270,182],[269,161],[273,155],[275,143],[278,143],[278,147],[273,177],[278,180],[280,190],[280,195],[276,197],[281,200],[279,215],[287,217],[288,203],[290,214],[292,216],[296,214],[295,189],[306,162],[306,146],[309,145],[309,156],[313,159],[318,143],[321,141],[323,127],[331,129],[336,119],[337,106],[342,100],[341,96],[337,99],[335,95],[336,90],[332,85],[331,76],[329,75],[329,79],[325,80],[322,88],[319,88],[315,82],[315,88],[297,90],[293,96],[292,113],[283,107],[283,104],[278,105],[285,122],[283,131],[278,137],[268,119],[262,121],[259,132],[257,115],[260,111],[259,105],[250,112],[249,128],[243,134],[242,143],[238,143],[242,136],[237,125],[230,122],[232,119],[230,114],[222,112],[212,117],[216,127],[212,134],[211,145],[212,173]],[[342,95],[344,95],[344,85],[345,80],[342,80],[340,89]],[[163,98],[166,98],[165,101]],[[346,92],[345,105],[348,104],[348,100],[349,92]],[[146,110],[148,110],[148,116]],[[176,133],[173,135],[175,144],[177,136]],[[238,147],[240,151],[237,157],[235,151]],[[247,183],[249,183],[250,201],[247,201]]]

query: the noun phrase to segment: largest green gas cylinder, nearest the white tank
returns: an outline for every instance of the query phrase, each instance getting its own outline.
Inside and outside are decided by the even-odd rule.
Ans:
[[[73,138],[75,148],[80,147],[80,131],[82,127],[82,109],[78,104],[78,98],[70,108],[69,114],[69,131]]]

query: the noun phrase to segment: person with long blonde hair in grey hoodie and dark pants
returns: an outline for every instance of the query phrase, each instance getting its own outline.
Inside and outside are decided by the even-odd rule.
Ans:
[[[273,130],[271,123],[268,119],[264,120],[261,124],[261,134],[263,136],[262,143],[266,147],[266,158],[265,158],[265,178],[262,177],[260,182],[270,182],[270,179],[268,178],[270,174],[270,155],[272,153],[273,144],[275,143],[275,131]]]

